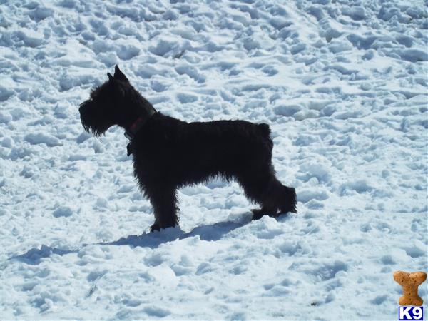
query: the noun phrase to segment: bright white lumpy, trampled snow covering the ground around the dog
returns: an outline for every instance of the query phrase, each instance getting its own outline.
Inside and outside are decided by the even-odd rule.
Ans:
[[[397,320],[392,272],[428,270],[424,1],[0,14],[1,320]],[[170,116],[269,123],[299,213],[252,221],[215,180],[180,190],[180,228],[148,233],[123,131],[93,138],[78,115],[116,63]]]

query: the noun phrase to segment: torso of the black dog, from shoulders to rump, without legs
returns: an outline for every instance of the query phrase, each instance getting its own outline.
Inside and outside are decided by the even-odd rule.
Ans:
[[[273,146],[270,128],[264,123],[187,123],[161,113],[153,116],[133,144],[137,163],[156,159],[173,173],[198,173],[201,178],[230,178],[247,163],[270,162]]]

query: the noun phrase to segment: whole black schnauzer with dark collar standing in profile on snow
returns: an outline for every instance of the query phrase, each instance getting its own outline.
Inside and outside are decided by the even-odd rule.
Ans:
[[[179,121],[157,112],[118,66],[114,76],[107,75],[108,81],[81,104],[81,121],[95,136],[113,125],[125,129],[134,175],[153,205],[152,231],[178,225],[178,188],[216,176],[235,178],[245,195],[261,205],[253,210],[254,219],[296,213],[295,189],[275,178],[267,124]]]

